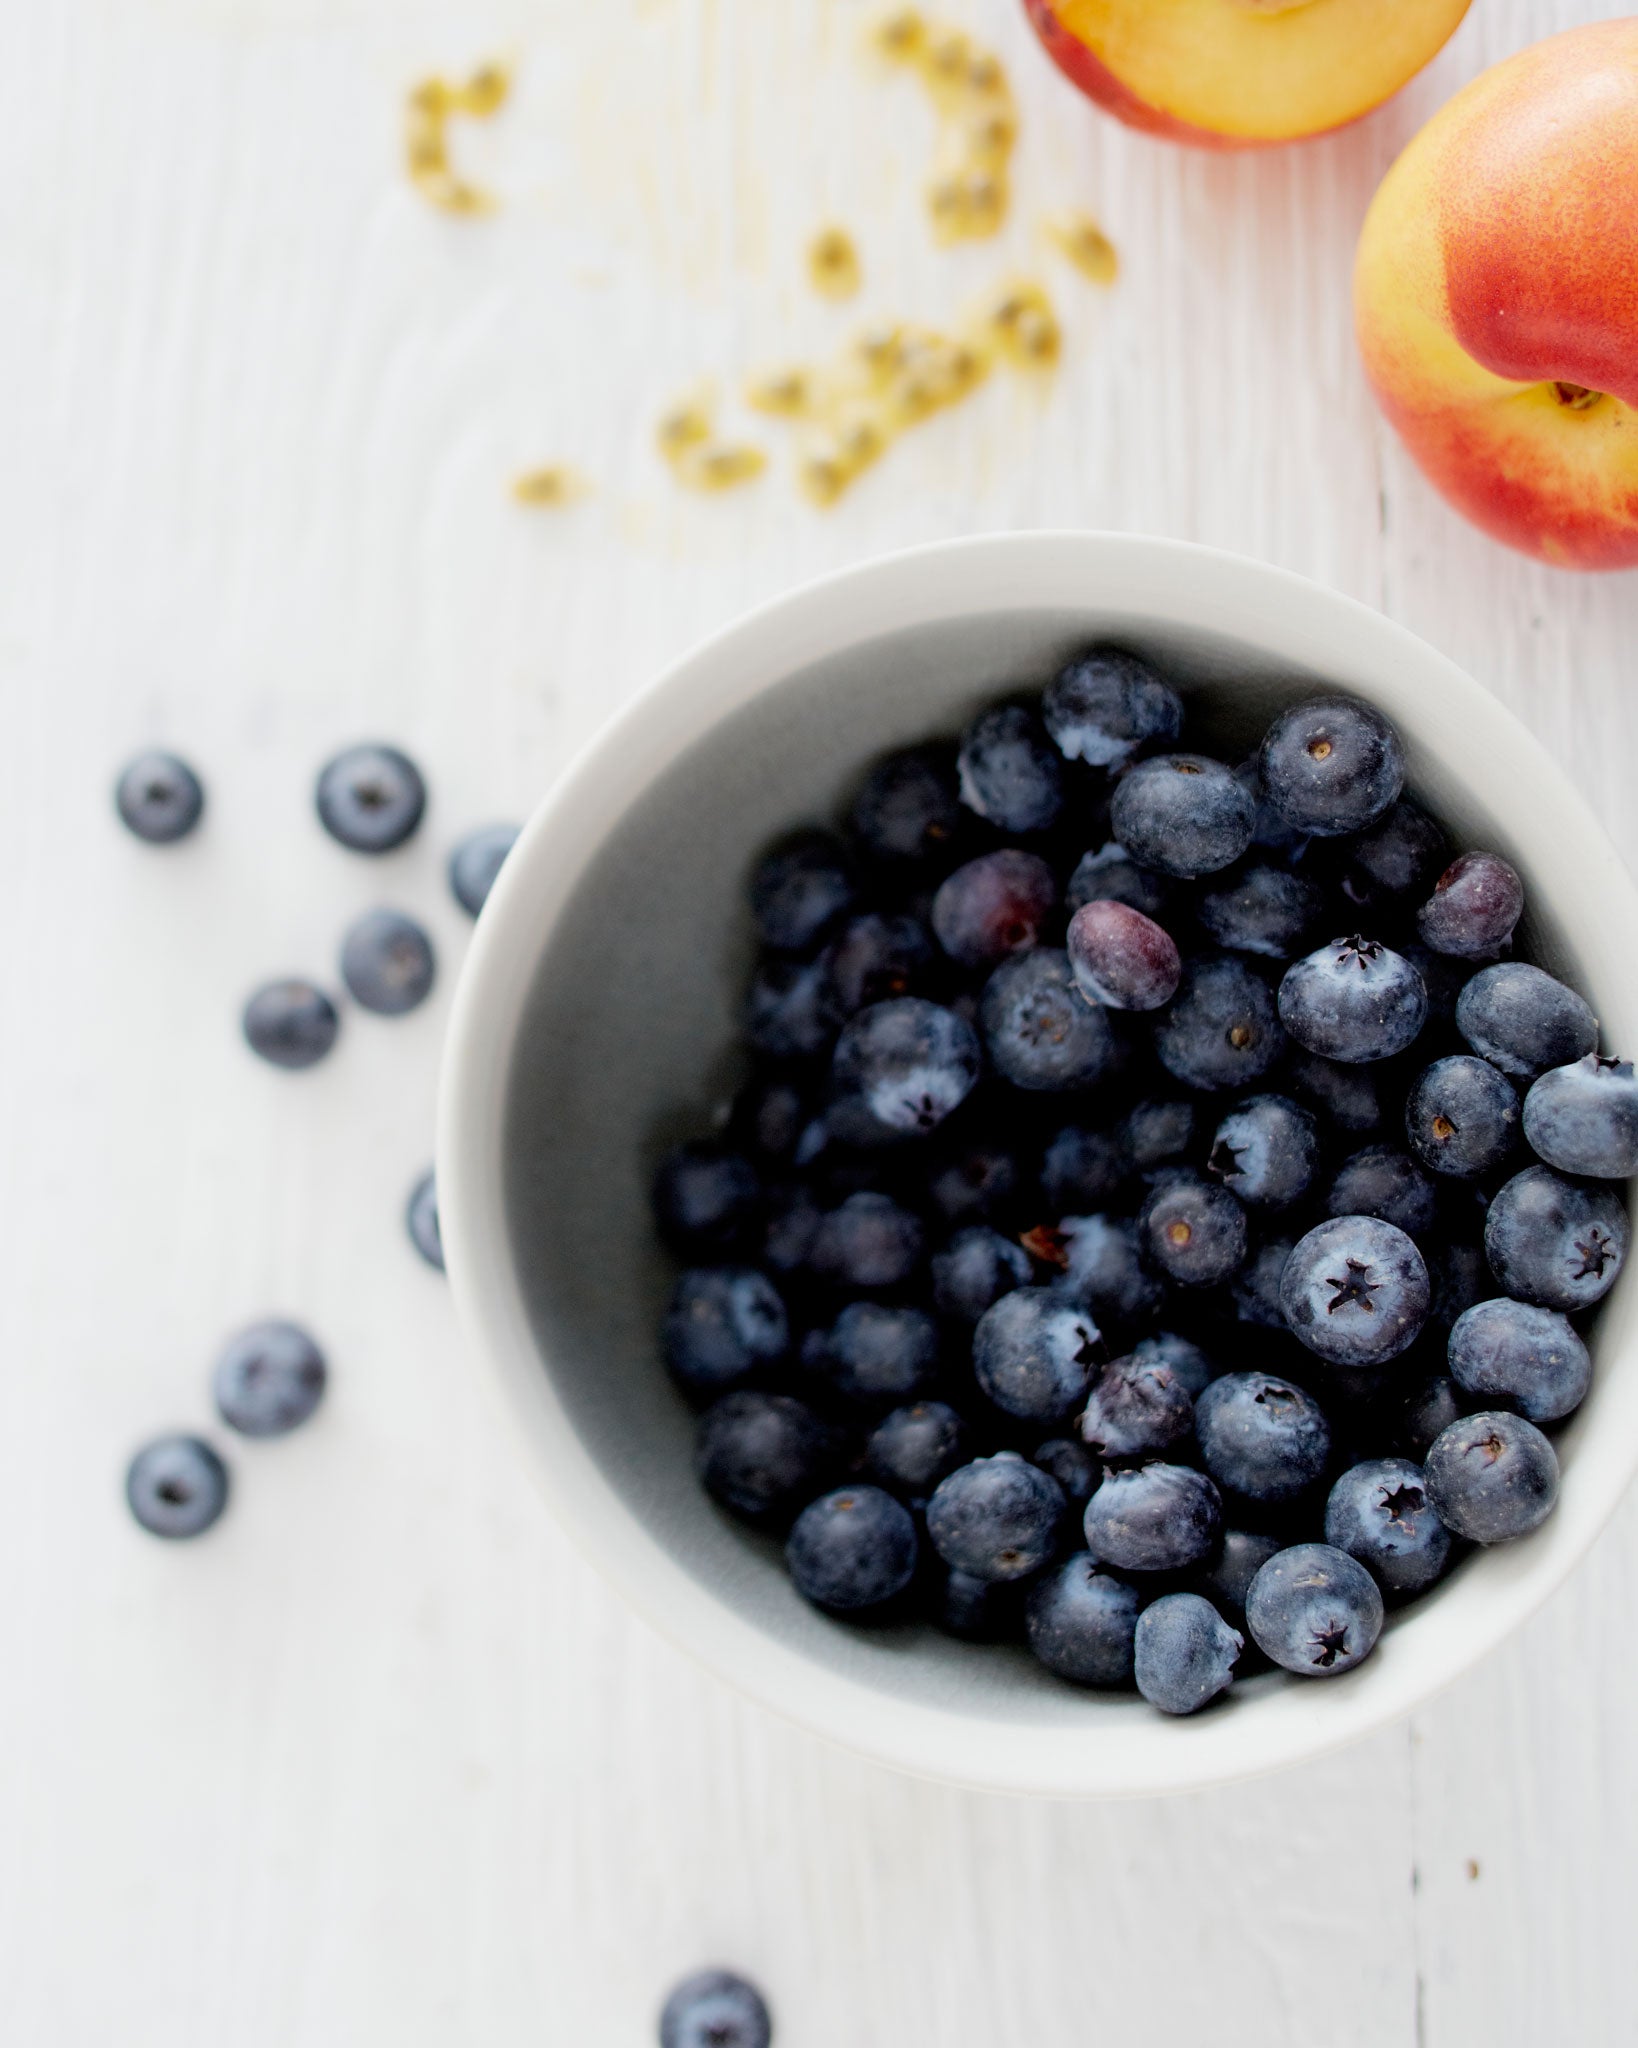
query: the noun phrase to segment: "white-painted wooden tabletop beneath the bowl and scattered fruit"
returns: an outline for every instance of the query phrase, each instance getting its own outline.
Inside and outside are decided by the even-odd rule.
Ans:
[[[729,1698],[571,1552],[410,1253],[465,924],[452,836],[522,813],[682,645],[938,535],[1087,524],[1286,563],[1472,668],[1638,852],[1634,578],[1507,557],[1378,424],[1347,279],[1370,190],[1464,78],[1581,0],[1478,0],[1394,106],[1208,162],[1097,119],[1011,0],[946,0],[1024,111],[999,246],[936,252],[932,121],[854,0],[4,0],[0,664],[8,786],[0,1317],[0,2036],[18,2048],[624,2048],[753,1970],[782,2048],[1601,2048],[1634,2038],[1638,1503],[1503,1655],[1325,1765],[1124,1808],[901,1782]],[[508,199],[428,211],[405,86],[508,53],[459,139]],[[1097,293],[1036,242],[1089,205]],[[858,309],[801,246],[852,225]],[[661,406],[936,319],[1009,266],[1059,297],[1046,393],[997,381],[839,510],[782,467],[686,498]],[[512,475],[596,496],[526,512]],[[420,756],[422,842],[311,821],[358,735]],[[121,758],[209,778],[174,854]],[[262,973],[330,973],[385,897],[438,997],[258,1067]],[[235,1450],[229,1518],[139,1536],[119,1477],[207,1419],[219,1337],[321,1333],[334,1399]]]

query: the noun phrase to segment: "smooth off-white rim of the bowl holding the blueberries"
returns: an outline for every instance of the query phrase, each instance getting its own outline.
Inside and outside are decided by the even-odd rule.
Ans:
[[[438,1087],[440,1223],[457,1317],[524,1438],[549,1505],[588,1561],[663,1636],[780,1718],[878,1763],[989,1792],[1202,1790],[1380,1731],[1454,1683],[1536,1612],[1587,1552],[1638,1466],[1638,1372],[1628,1366],[1628,1391],[1620,1376],[1613,1395],[1603,1389],[1613,1417],[1577,1442],[1575,1483],[1558,1511],[1527,1544],[1489,1552],[1480,1571],[1470,1567],[1452,1585],[1460,1599],[1439,1602],[1441,1632],[1425,1630],[1409,1647],[1407,1630],[1392,1630],[1357,1673],[1290,1683],[1224,1714],[1188,1722],[1155,1714],[1145,1729],[1114,1731],[1118,1741],[1063,1726],[1009,1741],[1001,1739],[1009,1724],[887,1694],[764,1632],[663,1550],[579,1440],[512,1272],[502,1147],[520,1014],[586,866],[688,743],[811,662],[905,627],[1089,600],[1116,608],[1130,606],[1134,594],[1153,594],[1167,623],[1239,635],[1317,676],[1327,674],[1325,649],[1345,637],[1355,647],[1351,666],[1378,676],[1398,670],[1419,690],[1448,692],[1470,729],[1482,731],[1493,760],[1484,784],[1527,788],[1550,819],[1540,836],[1523,834],[1540,848],[1532,866],[1581,862],[1581,874],[1597,874],[1587,893],[1601,915],[1613,913],[1615,930],[1638,928],[1638,889],[1568,776],[1507,707],[1409,629],[1294,571],[1196,543],[1095,530],[975,535],[874,557],[766,600],[698,641],[579,748],[522,829],[477,922]],[[1372,694],[1364,684],[1337,686]],[[1552,889],[1546,899],[1564,909]],[[1638,967],[1624,971],[1603,954],[1599,963],[1638,1030]],[[1611,1378],[1611,1346],[1601,1341],[1599,1352],[1603,1382]]]

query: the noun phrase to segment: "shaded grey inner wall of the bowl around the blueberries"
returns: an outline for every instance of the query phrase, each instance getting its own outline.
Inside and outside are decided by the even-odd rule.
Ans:
[[[1228,758],[1280,702],[1317,682],[1378,700],[1398,694],[1384,692],[1380,676],[1349,672],[1343,649],[1319,676],[1259,637],[1108,604],[887,629],[768,678],[647,784],[575,879],[528,987],[504,1114],[510,1257],[541,1370],[586,1456],[670,1565],[770,1645],[880,1698],[1091,1741],[1116,1726],[1136,1735],[1138,1724],[1153,1737],[1155,1716],[1136,1700],[1079,1694],[1022,1651],[981,1651],[925,1628],[837,1626],[796,1597],[774,1544],[706,1501],[692,1475],[692,1417],[657,1362],[676,1266],[655,1245],[647,1182],[670,1143],[708,1126],[737,1071],[735,1014],[751,954],[743,885],[756,852],[794,823],[839,815],[882,750],[954,733],[1009,688],[1040,686],[1095,637],[1145,647],[1190,696],[1204,694],[1190,733]],[[1507,786],[1493,776],[1480,793],[1470,772],[1452,768],[1437,719],[1407,702],[1386,709],[1405,729],[1411,786],[1462,842],[1509,852],[1529,870],[1509,829],[1517,813]],[[1540,889],[1527,950],[1589,983]],[[1513,1559],[1484,1565],[1505,1575]],[[1235,1716],[1331,1710],[1321,1694],[1366,1683],[1403,1655],[1398,1636],[1439,1630],[1470,1575],[1421,1602],[1355,1677],[1329,1688],[1251,1681],[1200,1729],[1218,1724],[1220,1741]],[[1200,1731],[1163,1733],[1190,1743]]]

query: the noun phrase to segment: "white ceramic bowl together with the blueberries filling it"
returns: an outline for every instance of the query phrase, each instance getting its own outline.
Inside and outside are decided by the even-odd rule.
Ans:
[[[747,889],[805,834],[770,930]],[[1544,1090],[1570,1165],[1523,1102],[1638,1042],[1634,903],[1384,621],[1140,541],[880,563],[661,682],[512,860],[438,1133],[457,1305],[569,1528],[753,1696],[968,1784],[1198,1786],[1417,1704],[1607,1516],[1634,1309],[1589,1163],[1622,1100]],[[1089,903],[1175,946],[1155,1008],[1165,948],[1120,915],[1081,985]],[[780,1032],[747,1038],[753,985]],[[688,1384],[657,1331],[723,1270],[784,1341]],[[1452,1358],[1486,1300],[1532,1315]]]

